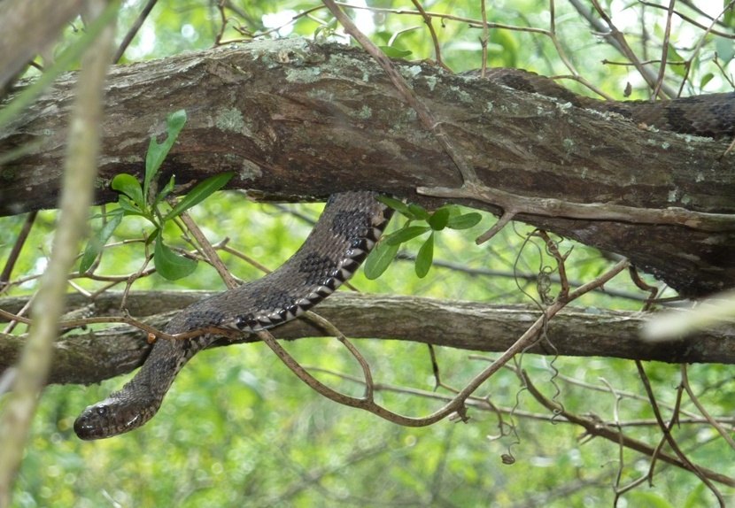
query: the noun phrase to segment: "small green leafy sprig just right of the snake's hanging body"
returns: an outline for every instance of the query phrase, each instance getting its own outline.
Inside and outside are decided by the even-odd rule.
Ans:
[[[462,213],[456,204],[446,204],[435,212],[430,213],[418,204],[406,204],[388,196],[378,196],[377,199],[390,206],[396,212],[406,217],[406,223],[390,235],[385,235],[370,252],[365,261],[365,276],[373,280],[380,277],[398,254],[400,244],[413,240],[429,233],[416,256],[416,275],[422,279],[429,273],[434,260],[434,235],[437,232],[449,229],[468,229],[480,222],[482,216],[477,212]],[[414,222],[423,222],[426,225],[414,226]]]

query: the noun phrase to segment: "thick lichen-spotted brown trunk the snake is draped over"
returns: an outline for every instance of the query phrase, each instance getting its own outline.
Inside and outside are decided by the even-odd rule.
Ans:
[[[718,231],[634,223],[643,208],[735,213],[735,158],[723,157],[727,142],[642,131],[428,65],[399,65],[488,187],[632,211],[629,221],[516,219],[619,252],[687,296],[735,287],[735,221],[730,227],[725,218]],[[56,205],[74,76],[60,79],[0,133],[0,152],[43,140],[2,168],[0,215]],[[142,175],[148,137],[162,133],[166,114],[181,108],[189,121],[163,178],[175,174],[184,182],[235,171],[230,188],[257,189],[260,196],[296,200],[377,189],[429,203],[416,196],[417,187],[462,183],[451,158],[360,50],[252,42],[120,65],[109,83],[98,203],[115,199],[109,189],[115,174]],[[463,203],[499,212],[489,203]]]

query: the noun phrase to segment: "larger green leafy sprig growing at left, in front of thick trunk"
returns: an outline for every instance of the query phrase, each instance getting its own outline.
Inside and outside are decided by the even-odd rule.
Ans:
[[[143,186],[137,181],[135,176],[128,173],[120,173],[112,179],[112,189],[120,192],[118,199],[119,208],[112,210],[104,215],[108,222],[93,235],[84,254],[81,257],[79,272],[85,273],[94,263],[95,259],[102,252],[104,244],[110,240],[115,229],[120,226],[123,217],[134,215],[147,219],[153,225],[154,229],[148,236],[146,243],[156,242],[153,250],[153,264],[156,271],[169,281],[182,279],[193,273],[197,269],[197,261],[190,258],[179,256],[172,250],[163,238],[163,231],[166,222],[180,216],[183,212],[189,210],[192,206],[201,203],[208,196],[211,196],[217,190],[224,187],[232,178],[234,173],[221,173],[212,178],[199,183],[189,194],[184,196],[178,204],[169,211],[162,211],[161,206],[166,203],[166,197],[174,189],[175,178],[172,176],[163,189],[156,196],[152,196],[151,182],[159,172],[159,168],[166,159],[169,150],[174,146],[174,142],[181,133],[186,123],[186,112],[180,110],[171,113],[166,117],[166,141],[157,142],[155,136],[151,136],[151,142],[148,146],[148,153],[145,157],[145,178]],[[93,219],[102,217],[97,215]]]

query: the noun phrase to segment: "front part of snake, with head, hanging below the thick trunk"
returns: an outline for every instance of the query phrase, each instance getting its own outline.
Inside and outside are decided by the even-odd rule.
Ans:
[[[352,277],[391,219],[391,209],[375,196],[370,191],[331,196],[306,242],[275,272],[190,305],[174,316],[166,333],[207,327],[256,332],[311,309]],[[217,338],[157,340],[128,384],[81,412],[74,422],[76,435],[93,440],[141,427],[159,411],[176,374]]]

